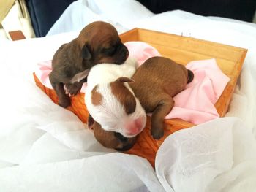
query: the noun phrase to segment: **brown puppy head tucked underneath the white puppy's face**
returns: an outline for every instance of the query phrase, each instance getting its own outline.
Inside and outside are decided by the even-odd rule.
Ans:
[[[104,147],[113,148],[120,151],[129,150],[135,144],[137,139],[137,137],[127,138],[113,131],[105,131],[102,129],[99,123],[94,121],[91,115],[89,115],[88,118],[88,126],[89,128],[94,129],[94,137]]]

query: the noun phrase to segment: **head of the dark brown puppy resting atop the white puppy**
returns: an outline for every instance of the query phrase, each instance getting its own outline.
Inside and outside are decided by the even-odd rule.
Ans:
[[[83,28],[78,43],[83,59],[92,66],[101,63],[123,64],[129,55],[116,28],[103,21],[95,21]]]

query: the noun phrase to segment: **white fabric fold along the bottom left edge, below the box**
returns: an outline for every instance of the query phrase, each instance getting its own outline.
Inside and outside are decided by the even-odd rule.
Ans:
[[[1,191],[164,191],[145,159],[122,153],[0,169]]]

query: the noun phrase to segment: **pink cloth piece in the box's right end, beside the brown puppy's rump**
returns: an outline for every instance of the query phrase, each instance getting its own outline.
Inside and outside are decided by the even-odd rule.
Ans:
[[[192,61],[186,67],[194,72],[194,80],[173,98],[175,105],[165,118],[181,118],[195,124],[218,118],[214,104],[230,78],[222,73],[215,59]]]

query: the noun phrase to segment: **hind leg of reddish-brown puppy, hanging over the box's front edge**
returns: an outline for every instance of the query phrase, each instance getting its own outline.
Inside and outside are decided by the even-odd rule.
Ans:
[[[168,94],[162,96],[151,117],[151,135],[154,139],[161,139],[164,136],[165,116],[172,110],[174,100]]]

